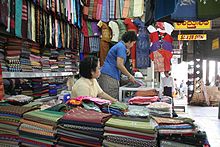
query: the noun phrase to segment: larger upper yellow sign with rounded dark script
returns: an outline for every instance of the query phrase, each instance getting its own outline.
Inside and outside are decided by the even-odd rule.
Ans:
[[[175,22],[175,30],[211,30],[211,20]]]

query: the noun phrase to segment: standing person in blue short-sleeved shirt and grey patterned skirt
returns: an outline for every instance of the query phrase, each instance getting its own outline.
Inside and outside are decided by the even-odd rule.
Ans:
[[[125,61],[136,40],[137,35],[134,31],[124,33],[121,41],[109,50],[102,66],[99,84],[103,91],[114,98],[118,98],[121,73],[126,75],[130,82],[135,83],[133,75],[125,68]]]

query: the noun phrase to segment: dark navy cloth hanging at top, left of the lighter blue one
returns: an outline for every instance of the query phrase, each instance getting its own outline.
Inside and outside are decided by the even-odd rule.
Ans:
[[[156,0],[155,1],[155,20],[159,20],[174,12],[177,0]]]

